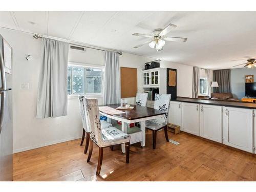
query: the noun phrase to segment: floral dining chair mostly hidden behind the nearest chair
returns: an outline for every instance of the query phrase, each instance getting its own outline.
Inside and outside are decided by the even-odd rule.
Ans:
[[[89,126],[87,125],[87,121],[86,121],[86,116],[85,116],[85,109],[84,109],[84,96],[78,96],[79,98],[79,105],[80,105],[80,114],[81,114],[81,117],[82,117],[82,140],[81,140],[81,143],[80,143],[80,146],[82,146],[83,144],[83,140],[84,140],[84,137],[86,135],[86,146],[84,147],[84,154],[87,153],[88,151],[88,146],[89,146],[89,141],[90,141],[90,130],[89,130]],[[110,127],[112,126],[111,123],[108,123],[104,120],[101,120],[101,127],[102,129],[105,129],[106,127]]]

